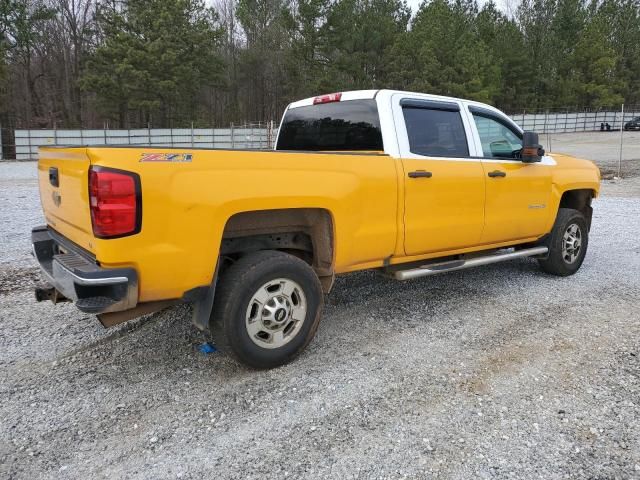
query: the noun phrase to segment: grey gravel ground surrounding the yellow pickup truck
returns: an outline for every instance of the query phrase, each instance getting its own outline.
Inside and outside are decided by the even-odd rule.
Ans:
[[[640,479],[639,178],[603,184],[575,276],[344,276],[254,372],[186,306],[104,330],[35,303],[33,172],[0,164],[0,478]]]

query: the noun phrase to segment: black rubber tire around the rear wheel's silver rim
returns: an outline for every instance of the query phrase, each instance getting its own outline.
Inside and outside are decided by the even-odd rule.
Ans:
[[[257,336],[252,340],[248,332],[248,308],[250,302],[255,302],[254,295],[265,284],[277,279],[288,279],[302,289],[306,314],[301,315],[304,320],[299,322],[299,327],[295,327],[297,332],[286,344],[277,348],[263,348],[256,341],[266,340]],[[224,353],[252,368],[267,369],[284,365],[304,350],[314,337],[320,323],[323,300],[320,281],[304,261],[274,250],[250,253],[230,266],[219,279],[209,325],[213,342]],[[259,333],[268,335],[263,331]]]

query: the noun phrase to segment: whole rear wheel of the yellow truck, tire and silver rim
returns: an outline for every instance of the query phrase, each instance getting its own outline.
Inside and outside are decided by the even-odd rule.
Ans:
[[[245,365],[283,365],[315,335],[322,303],[320,281],[307,263],[278,251],[251,253],[220,278],[211,335]]]

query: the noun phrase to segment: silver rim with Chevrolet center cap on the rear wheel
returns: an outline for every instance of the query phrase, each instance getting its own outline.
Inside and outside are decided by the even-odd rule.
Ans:
[[[302,287],[288,278],[262,285],[247,306],[245,326],[249,338],[262,348],[279,348],[300,332],[307,316]]]

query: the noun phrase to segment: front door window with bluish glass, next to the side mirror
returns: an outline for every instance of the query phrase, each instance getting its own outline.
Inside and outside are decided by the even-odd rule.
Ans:
[[[482,154],[485,158],[519,160],[522,151],[522,136],[497,118],[473,113],[478,129]]]

